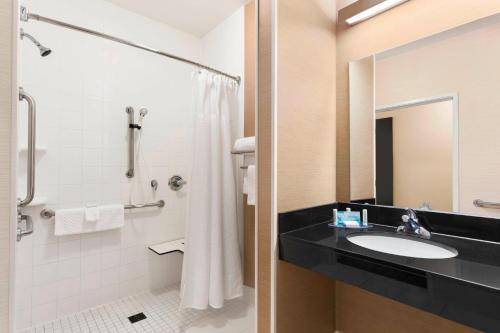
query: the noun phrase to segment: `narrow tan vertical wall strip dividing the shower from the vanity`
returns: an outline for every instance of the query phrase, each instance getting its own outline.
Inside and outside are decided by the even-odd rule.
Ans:
[[[271,242],[272,242],[272,26],[271,0],[257,0],[257,332],[271,332]]]

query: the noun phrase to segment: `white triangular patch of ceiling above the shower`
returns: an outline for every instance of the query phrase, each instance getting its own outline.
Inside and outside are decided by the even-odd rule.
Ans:
[[[204,36],[248,0],[107,0],[122,8]]]

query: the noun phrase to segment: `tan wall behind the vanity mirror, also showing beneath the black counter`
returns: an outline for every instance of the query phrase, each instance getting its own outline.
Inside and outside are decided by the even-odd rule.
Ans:
[[[348,200],[349,190],[349,94],[348,64],[383,50],[451,29],[473,20],[500,12],[498,0],[412,0],[350,28],[337,31],[337,199]],[[356,293],[356,292],[357,293]],[[400,332],[395,325],[395,314],[402,316],[405,328],[416,327],[416,332],[433,332],[436,325],[440,332],[472,332],[460,325],[431,314],[391,302],[359,289],[337,284],[337,328],[346,333],[366,332],[359,320],[349,320],[346,309],[356,308],[357,313],[370,318],[372,332]],[[349,306],[348,302],[355,306]],[[359,318],[356,318],[359,319]],[[415,326],[413,326],[415,325]],[[368,328],[369,331],[369,328]]]

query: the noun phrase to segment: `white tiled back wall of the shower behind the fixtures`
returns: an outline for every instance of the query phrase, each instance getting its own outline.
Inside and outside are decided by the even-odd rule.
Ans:
[[[26,0],[23,5],[189,59],[200,60],[203,53],[202,39],[106,1]],[[147,245],[184,235],[193,127],[192,67],[44,23],[22,27],[52,54],[42,58],[29,41],[20,42],[19,82],[38,105],[36,197],[46,203],[25,210],[34,218],[35,232],[16,247],[18,329],[179,281],[182,256],[158,256]],[[127,106],[136,116],[141,107],[149,110],[132,180],[125,177]],[[21,104],[21,148],[25,113]],[[21,194],[25,159],[21,151]],[[174,174],[188,181],[179,192],[167,185]],[[156,193],[152,179],[159,182]],[[166,201],[163,209],[127,212],[123,229],[102,233],[55,237],[53,220],[39,217],[45,207],[159,199]]]

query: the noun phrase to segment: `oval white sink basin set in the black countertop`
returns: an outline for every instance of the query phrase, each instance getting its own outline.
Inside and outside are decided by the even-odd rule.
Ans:
[[[370,250],[404,257],[446,259],[458,255],[452,247],[400,234],[355,233],[348,235],[347,240]]]

